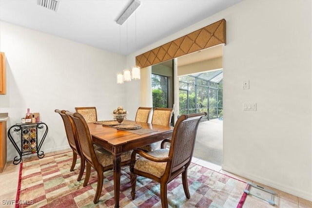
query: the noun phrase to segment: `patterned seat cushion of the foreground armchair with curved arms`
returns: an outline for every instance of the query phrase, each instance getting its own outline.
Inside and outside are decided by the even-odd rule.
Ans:
[[[162,157],[168,157],[169,150],[160,149],[160,150],[150,151],[147,153],[151,156],[162,158]],[[165,172],[166,165],[167,165],[167,162],[157,163],[157,162],[148,160],[142,156],[139,156],[136,160],[134,168],[142,172],[156,175],[158,178],[160,178]]]

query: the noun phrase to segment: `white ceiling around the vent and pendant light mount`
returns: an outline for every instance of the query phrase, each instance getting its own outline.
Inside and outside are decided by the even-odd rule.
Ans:
[[[38,0],[0,0],[0,20],[129,55],[240,1],[140,0],[119,25],[117,19],[132,0],[59,0],[57,12],[39,6]]]

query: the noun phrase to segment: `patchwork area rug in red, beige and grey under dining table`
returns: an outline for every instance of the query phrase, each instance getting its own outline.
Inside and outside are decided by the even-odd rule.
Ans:
[[[104,173],[103,189],[97,204],[93,203],[97,173],[93,170],[89,184],[84,176],[77,181],[80,159],[69,171],[72,152],[24,162],[20,165],[17,208],[114,208],[113,171]],[[131,198],[129,166],[121,169],[120,208],[161,208],[160,186],[153,180],[137,177],[136,199]],[[168,184],[169,208],[236,208],[246,183],[202,166],[191,164],[188,170],[191,198],[184,194],[181,176]]]

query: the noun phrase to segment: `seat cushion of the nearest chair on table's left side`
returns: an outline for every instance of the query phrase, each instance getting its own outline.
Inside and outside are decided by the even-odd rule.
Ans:
[[[98,162],[102,166],[109,166],[113,165],[113,154],[109,151],[104,150],[103,148],[99,147],[98,145],[93,145],[94,151],[96,152],[96,156],[98,158]],[[121,154],[121,162],[125,162],[131,159],[132,151],[127,151]]]

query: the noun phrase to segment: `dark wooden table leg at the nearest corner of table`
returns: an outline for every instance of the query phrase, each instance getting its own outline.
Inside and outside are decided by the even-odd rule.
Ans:
[[[121,157],[113,154],[115,208],[119,208]]]

